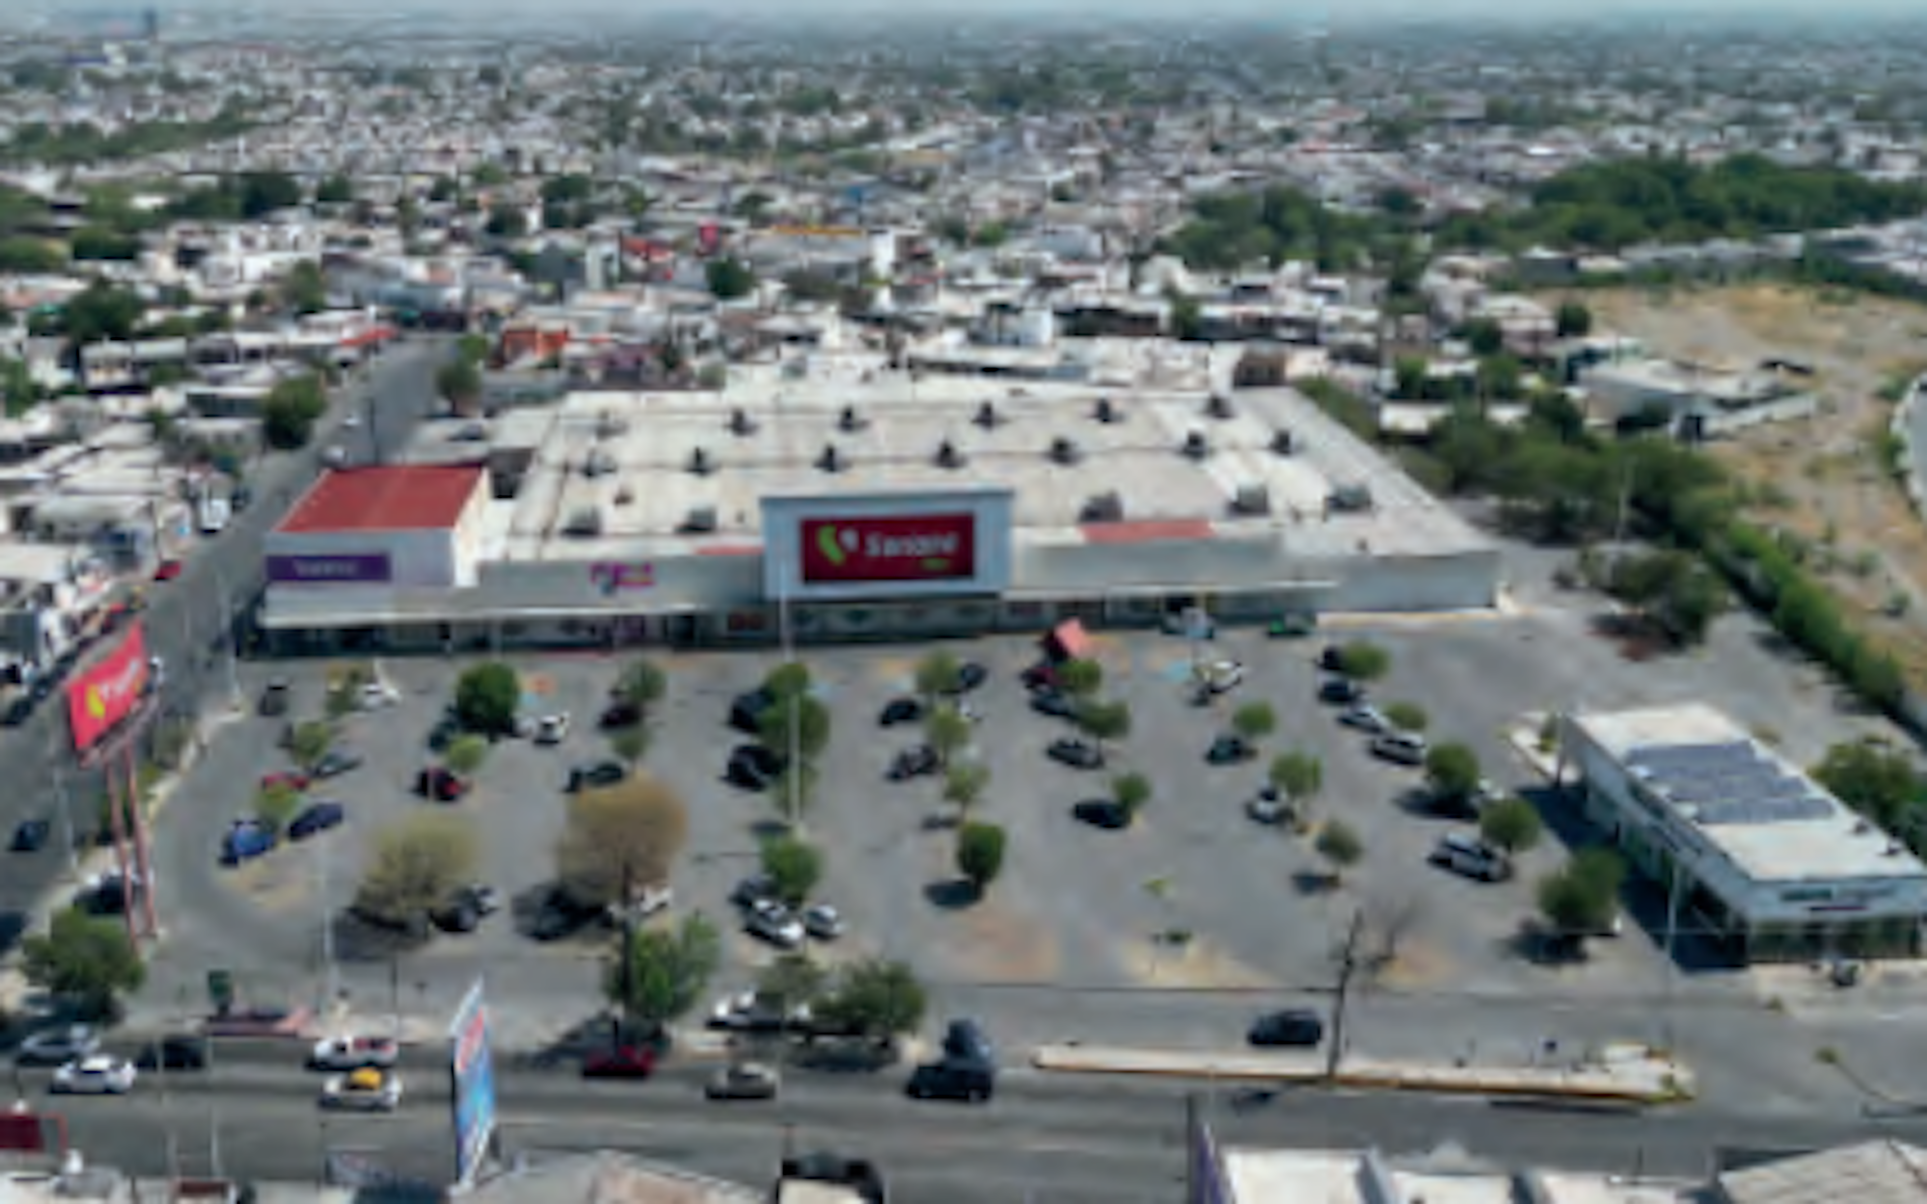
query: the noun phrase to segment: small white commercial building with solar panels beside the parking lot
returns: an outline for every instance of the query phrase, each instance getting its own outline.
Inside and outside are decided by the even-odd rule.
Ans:
[[[1919,954],[1927,867],[1719,711],[1571,715],[1559,751],[1671,930],[1750,961]]]

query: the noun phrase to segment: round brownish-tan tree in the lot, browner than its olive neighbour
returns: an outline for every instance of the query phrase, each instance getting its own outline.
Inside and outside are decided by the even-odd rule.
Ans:
[[[690,834],[682,798],[663,780],[632,774],[568,798],[555,842],[555,877],[586,907],[626,903],[622,884],[644,890],[669,882]]]

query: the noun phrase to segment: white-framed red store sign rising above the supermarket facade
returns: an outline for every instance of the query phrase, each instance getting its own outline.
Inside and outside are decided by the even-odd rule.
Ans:
[[[784,599],[996,595],[1012,493],[996,487],[763,499],[763,591]]]

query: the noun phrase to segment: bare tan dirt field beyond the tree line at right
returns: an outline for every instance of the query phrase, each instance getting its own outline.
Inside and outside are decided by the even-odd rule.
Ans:
[[[1927,306],[1779,283],[1588,291],[1596,331],[1655,354],[1755,368],[1815,368],[1821,408],[1711,445],[1748,482],[1748,516],[1798,534],[1809,564],[1927,688],[1927,524],[1883,464],[1892,403],[1883,387],[1927,370]]]

